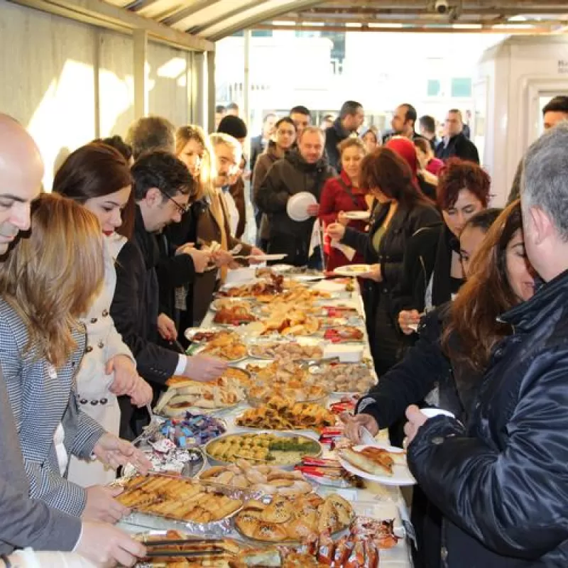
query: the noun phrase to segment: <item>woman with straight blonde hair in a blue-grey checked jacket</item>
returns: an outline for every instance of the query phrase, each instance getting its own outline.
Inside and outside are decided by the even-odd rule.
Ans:
[[[70,456],[112,468],[148,461],[82,412],[75,373],[86,341],[80,317],[104,280],[97,217],[59,195],[31,206],[31,233],[0,265],[0,365],[16,420],[30,494],[85,520],[115,522],[118,491],[67,481]]]

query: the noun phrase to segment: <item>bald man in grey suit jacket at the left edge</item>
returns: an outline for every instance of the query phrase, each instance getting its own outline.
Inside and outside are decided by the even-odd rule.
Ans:
[[[18,232],[30,228],[30,206],[42,178],[43,162],[33,139],[18,122],[0,114],[0,261]],[[6,555],[14,548],[24,547],[75,550],[104,565],[131,566],[135,556],[144,555],[141,545],[111,525],[82,523],[28,497],[28,476],[0,366],[0,566],[3,561],[9,565]]]

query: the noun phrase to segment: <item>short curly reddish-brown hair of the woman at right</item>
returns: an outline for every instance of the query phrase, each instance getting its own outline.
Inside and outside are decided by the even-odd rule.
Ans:
[[[489,174],[476,163],[450,158],[438,177],[436,190],[438,207],[442,211],[454,207],[459,192],[464,188],[473,193],[484,207],[487,207],[491,189]]]

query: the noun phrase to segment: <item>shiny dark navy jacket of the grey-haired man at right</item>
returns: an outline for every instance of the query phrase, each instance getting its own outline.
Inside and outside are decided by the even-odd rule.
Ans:
[[[568,271],[501,320],[468,427],[427,420],[408,463],[446,518],[444,567],[567,567]]]

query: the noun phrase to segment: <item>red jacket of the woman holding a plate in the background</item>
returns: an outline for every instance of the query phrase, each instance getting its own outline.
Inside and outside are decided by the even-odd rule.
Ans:
[[[343,182],[343,183],[342,183]],[[340,211],[367,211],[368,207],[365,202],[365,195],[361,190],[354,189],[351,185],[349,176],[342,171],[337,178],[330,178],[325,182],[320,196],[320,221],[323,225],[329,225],[337,222],[337,214]],[[365,231],[366,221],[350,221],[349,228],[357,231]],[[329,259],[327,261],[327,270],[332,271],[337,266],[346,264],[360,264],[364,262],[363,256],[356,253],[352,261],[334,247],[329,249]]]

